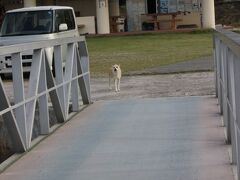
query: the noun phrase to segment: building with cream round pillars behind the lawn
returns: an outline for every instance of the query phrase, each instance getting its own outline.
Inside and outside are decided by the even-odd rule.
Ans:
[[[72,6],[80,33],[215,27],[214,0],[3,0],[3,3],[7,10]]]

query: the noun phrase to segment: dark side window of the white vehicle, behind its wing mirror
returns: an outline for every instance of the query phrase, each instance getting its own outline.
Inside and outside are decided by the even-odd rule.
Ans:
[[[67,24],[68,30],[75,29],[75,22],[72,10],[56,10],[55,13],[55,31],[59,32],[59,25]]]

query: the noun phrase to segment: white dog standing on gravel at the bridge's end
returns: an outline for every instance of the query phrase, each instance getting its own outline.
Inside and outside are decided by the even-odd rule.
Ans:
[[[115,91],[120,91],[120,80],[122,77],[122,71],[120,65],[114,64],[109,71],[109,89],[111,88],[111,78],[114,80]]]

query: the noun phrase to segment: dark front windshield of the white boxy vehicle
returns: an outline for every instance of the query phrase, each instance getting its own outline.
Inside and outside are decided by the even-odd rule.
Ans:
[[[51,10],[6,13],[1,36],[47,34],[52,32],[52,24]]]

